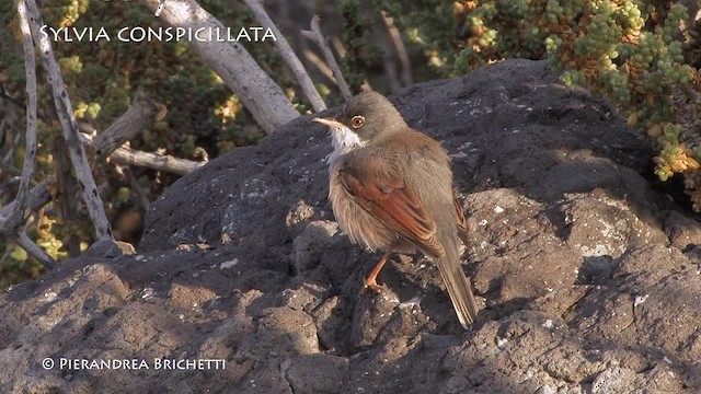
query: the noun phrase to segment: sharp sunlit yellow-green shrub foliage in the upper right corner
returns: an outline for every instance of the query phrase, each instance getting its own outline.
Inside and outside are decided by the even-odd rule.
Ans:
[[[564,71],[565,84],[606,96],[631,127],[646,131],[659,149],[655,172],[665,181],[696,173],[700,158],[693,152],[701,152],[700,130],[682,127],[676,116],[680,89],[699,89],[698,71],[683,56],[679,26],[686,20],[683,5],[655,1],[480,1],[467,24],[484,26],[472,28],[476,37],[494,35],[463,49],[456,69],[508,57],[547,58]]]

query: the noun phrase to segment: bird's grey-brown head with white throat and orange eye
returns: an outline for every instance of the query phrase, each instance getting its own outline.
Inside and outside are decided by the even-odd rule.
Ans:
[[[394,105],[376,92],[354,96],[335,117],[312,120],[331,128],[334,152],[340,154],[406,127]]]

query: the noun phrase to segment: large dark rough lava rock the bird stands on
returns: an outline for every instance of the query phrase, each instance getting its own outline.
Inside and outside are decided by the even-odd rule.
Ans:
[[[699,223],[641,175],[652,152],[611,108],[528,60],[392,101],[453,160],[483,308],[471,331],[421,256],[363,291],[379,256],[333,221],[327,131],[301,117],[175,183],[136,255],[82,256],[0,296],[0,391],[701,390]]]

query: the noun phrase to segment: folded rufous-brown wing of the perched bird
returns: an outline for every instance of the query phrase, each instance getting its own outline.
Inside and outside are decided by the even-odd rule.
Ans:
[[[338,178],[355,201],[381,223],[424,252],[444,255],[433,216],[399,174],[388,171],[387,162],[364,158],[342,166]]]

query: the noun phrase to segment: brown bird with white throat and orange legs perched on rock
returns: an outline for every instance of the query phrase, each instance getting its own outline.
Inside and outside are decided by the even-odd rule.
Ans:
[[[353,243],[384,252],[366,287],[380,291],[377,276],[392,253],[418,250],[437,265],[469,329],[479,310],[460,260],[468,227],[446,150],[377,92],[359,93],[336,116],[312,120],[331,129],[329,200],[340,228]]]

